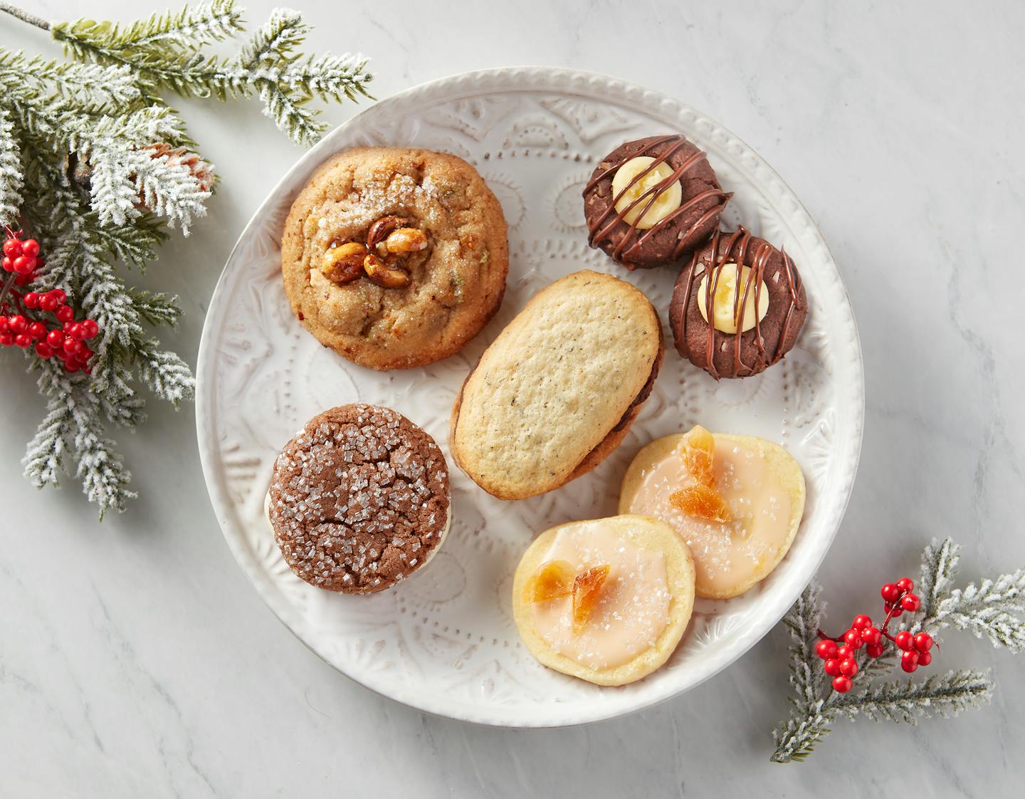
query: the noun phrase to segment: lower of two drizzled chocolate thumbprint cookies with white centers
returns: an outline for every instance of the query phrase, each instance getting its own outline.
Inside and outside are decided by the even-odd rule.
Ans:
[[[757,374],[782,359],[806,316],[793,259],[743,228],[712,234],[680,273],[669,303],[676,351],[716,379]]]

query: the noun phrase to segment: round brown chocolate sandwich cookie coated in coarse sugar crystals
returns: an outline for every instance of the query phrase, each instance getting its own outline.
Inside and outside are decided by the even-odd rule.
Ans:
[[[448,532],[445,456],[391,408],[331,408],[275,461],[268,519],[296,576],[343,594],[383,591],[422,568]]]

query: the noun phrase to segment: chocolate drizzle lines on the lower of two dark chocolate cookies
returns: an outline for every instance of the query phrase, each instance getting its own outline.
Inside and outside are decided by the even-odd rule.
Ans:
[[[710,264],[702,263],[700,255],[703,252],[710,253]],[[705,303],[705,317],[707,322],[705,326],[707,327],[707,333],[705,336],[705,368],[708,373],[711,374],[715,379],[719,379],[722,375],[719,369],[715,367],[715,341],[716,334],[727,336],[727,339],[732,336],[732,350],[733,350],[733,373],[728,376],[734,377],[744,377],[749,374],[756,374],[762,371],[766,366],[772,366],[777,363],[789,349],[789,344],[792,344],[792,339],[795,337],[797,330],[791,329],[794,324],[799,328],[801,322],[804,320],[804,314],[799,313],[807,309],[807,299],[804,296],[801,285],[801,276],[797,274],[797,270],[793,265],[793,261],[786,253],[785,249],[780,249],[779,254],[783,261],[782,272],[786,278],[786,291],[781,294],[786,297],[787,308],[783,314],[782,327],[780,329],[779,336],[776,339],[774,351],[769,356],[766,351],[765,337],[762,334],[762,320],[758,319],[757,308],[758,302],[762,298],[762,291],[767,290],[765,287],[765,273],[769,265],[769,259],[772,257],[773,253],[776,252],[776,248],[773,247],[769,242],[763,241],[762,239],[754,239],[750,232],[744,228],[738,228],[733,233],[724,233],[722,231],[715,231],[706,248],[700,251],[695,251],[691,256],[690,264],[684,270],[681,276],[684,281],[684,296],[683,296],[683,315],[682,328],[678,335],[678,341],[687,341],[687,322],[690,316],[688,309],[691,307],[691,293],[698,290],[696,286],[700,285],[701,279],[705,274],[709,274],[708,279],[708,290],[706,295],[703,297]],[[747,282],[744,284],[743,295],[738,290],[734,292],[733,298],[733,318],[738,320],[738,331],[736,333],[721,333],[715,329],[713,320],[714,316],[714,302],[715,302],[715,290],[719,287],[719,279],[722,275],[722,267],[726,264],[736,264],[739,267],[748,267],[750,275]],[[737,276],[738,285],[740,282],[740,275]],[[739,330],[740,322],[743,319],[743,312],[747,308],[748,301],[754,303],[754,347],[758,355],[758,364],[746,364],[741,358],[741,336],[743,331]],[[697,303],[702,302],[702,297],[697,297]],[[799,321],[798,321],[799,317]],[[765,364],[763,366],[762,364]],[[758,368],[761,366],[761,368]]]

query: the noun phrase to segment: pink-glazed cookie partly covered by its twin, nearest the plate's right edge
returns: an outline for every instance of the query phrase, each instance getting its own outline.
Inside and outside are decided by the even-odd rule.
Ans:
[[[768,576],[790,549],[805,476],[779,444],[695,428],[638,452],[619,512],[670,524],[694,557],[697,595],[727,599]]]

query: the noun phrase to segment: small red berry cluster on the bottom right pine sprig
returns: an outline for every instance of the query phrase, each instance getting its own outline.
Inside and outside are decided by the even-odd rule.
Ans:
[[[833,690],[847,693],[851,690],[851,678],[858,673],[856,653],[865,647],[869,657],[878,657],[886,651],[884,639],[893,641],[902,651],[900,665],[908,673],[919,666],[929,666],[933,662],[933,637],[929,633],[911,635],[904,630],[896,636],[890,635],[890,623],[905,610],[913,613],[921,606],[921,601],[911,591],[914,583],[908,577],[901,577],[896,583],[887,583],[880,590],[887,616],[880,627],[873,627],[870,616],[862,613],[851,623],[851,629],[837,638],[830,638],[819,630],[821,639],[815,645],[815,653],[824,662],[822,665],[826,674],[833,678]]]

